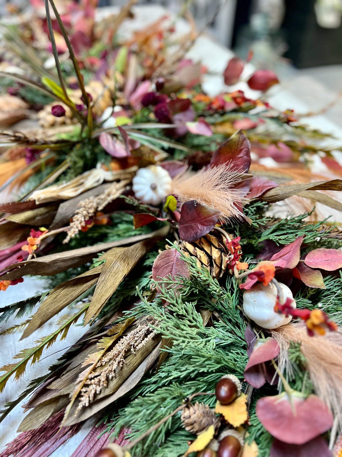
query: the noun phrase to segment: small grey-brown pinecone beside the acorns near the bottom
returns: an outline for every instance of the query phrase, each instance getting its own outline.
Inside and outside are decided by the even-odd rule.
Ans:
[[[203,403],[189,404],[181,412],[182,425],[190,433],[194,435],[200,435],[210,425],[218,430],[221,418],[215,414],[214,409],[210,409],[209,406]]]

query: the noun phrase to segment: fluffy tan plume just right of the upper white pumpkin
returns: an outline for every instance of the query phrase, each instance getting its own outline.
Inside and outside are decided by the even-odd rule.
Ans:
[[[221,218],[243,218],[238,209],[244,203],[241,192],[233,186],[241,181],[241,171],[232,170],[223,164],[217,167],[202,168],[197,172],[187,170],[173,179],[173,193],[179,200],[197,200],[202,205],[221,211]]]

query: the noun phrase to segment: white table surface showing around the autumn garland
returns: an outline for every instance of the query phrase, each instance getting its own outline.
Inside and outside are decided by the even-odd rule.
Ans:
[[[99,11],[98,16],[106,15],[109,11],[115,11],[115,8],[103,8]],[[120,32],[123,35],[130,34],[132,30],[139,29],[141,27],[146,27],[148,24],[154,22],[161,16],[166,14],[166,10],[159,5],[153,6],[136,6],[133,8],[135,12],[135,19],[130,21],[125,21],[124,25],[121,27]],[[186,33],[188,30],[188,25],[184,20],[176,21],[176,31],[180,34]],[[202,64],[206,65],[210,70],[210,74],[204,75],[203,78],[203,88],[207,91],[209,95],[217,95],[223,90],[228,90],[227,86],[223,82],[223,70],[225,69],[228,60],[233,56],[232,51],[224,48],[218,43],[215,43],[210,37],[202,35],[197,39],[197,42],[193,48],[188,53],[187,57],[192,58],[195,62],[201,61]],[[253,72],[253,66],[247,64],[244,70],[243,76],[248,76]],[[311,83],[313,80],[311,80]],[[306,80],[303,84],[310,84]],[[229,87],[229,90],[241,89],[245,91],[246,96],[251,98],[259,96],[259,93],[250,90],[246,83],[239,82],[237,85]],[[322,89],[324,90],[324,88]],[[314,98],[314,97],[313,97]],[[281,110],[285,109],[294,109],[296,112],[309,112],[313,108],[305,101],[302,101],[298,96],[291,94],[290,87],[287,86],[283,88],[281,85],[274,86],[271,90],[271,96],[269,102],[272,106],[279,108]],[[313,128],[319,128],[325,132],[334,133],[335,137],[338,139],[335,141],[336,144],[341,144],[342,140],[342,128],[337,127],[333,122],[329,121],[324,116],[309,117],[305,119],[306,122]],[[334,142],[328,140],[329,144]],[[16,286],[9,287],[6,292],[0,292],[0,306],[5,306],[6,304],[15,303],[24,298],[31,297],[36,294],[36,292],[46,291],[46,283],[42,280],[36,278],[25,278],[23,283],[17,284]],[[63,313],[59,314],[58,317],[51,319],[40,329],[38,329],[33,335],[26,338],[26,340],[18,341],[20,338],[19,333],[14,333],[12,335],[0,336],[0,364],[5,365],[11,361],[11,357],[18,353],[21,349],[32,347],[34,341],[41,336],[49,335],[55,323],[60,319],[62,314],[69,314],[70,310],[66,309]],[[10,323],[0,325],[0,330],[5,329],[17,323],[17,321],[10,321]],[[16,396],[21,393],[21,391],[26,388],[27,384],[31,379],[34,379],[38,376],[42,376],[47,372],[47,367],[52,365],[59,356],[62,355],[63,351],[67,349],[70,345],[80,338],[83,333],[86,331],[82,326],[74,326],[69,330],[66,340],[62,342],[56,342],[50,349],[43,352],[41,361],[36,363],[33,367],[30,365],[26,368],[26,373],[21,381],[21,383],[15,383],[10,379],[4,389],[4,392],[1,394],[0,405],[4,405],[6,401],[16,398]],[[56,351],[60,351],[57,352]],[[15,409],[6,417],[6,419],[0,424],[0,450],[5,448],[5,444],[11,441],[16,435],[17,427],[19,426],[21,420],[23,419],[23,410],[21,405],[27,402],[27,398],[18,404]],[[89,420],[83,428],[78,432],[76,436],[73,436],[70,440],[67,441],[64,445],[60,446],[52,455],[53,457],[67,457],[70,456],[73,451],[76,449],[80,441],[87,435],[88,431],[94,425],[94,420]]]

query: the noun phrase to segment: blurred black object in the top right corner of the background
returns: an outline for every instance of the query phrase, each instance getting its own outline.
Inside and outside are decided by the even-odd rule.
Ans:
[[[316,0],[285,0],[283,29],[289,45],[284,57],[297,68],[342,64],[342,26],[322,28],[317,24]]]

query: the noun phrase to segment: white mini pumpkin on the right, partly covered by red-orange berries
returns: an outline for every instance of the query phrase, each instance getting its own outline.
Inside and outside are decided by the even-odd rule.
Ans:
[[[284,298],[293,299],[289,287],[285,286],[282,282],[279,285],[283,291]],[[272,282],[268,286],[257,282],[249,290],[244,292],[244,314],[264,329],[276,329],[281,325],[288,324],[292,317],[278,314],[273,309],[276,297],[277,288]],[[291,306],[292,308],[296,307],[295,300],[293,300]]]

